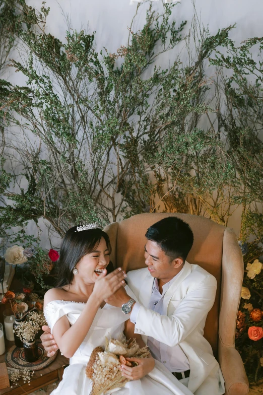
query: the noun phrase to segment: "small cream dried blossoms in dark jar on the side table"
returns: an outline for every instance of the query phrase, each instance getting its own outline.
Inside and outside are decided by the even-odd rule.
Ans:
[[[42,325],[46,325],[44,315],[31,311],[27,314],[26,321],[22,322],[14,331],[22,342],[33,342]]]

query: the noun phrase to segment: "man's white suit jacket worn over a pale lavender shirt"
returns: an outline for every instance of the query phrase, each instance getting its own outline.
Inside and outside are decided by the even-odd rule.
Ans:
[[[164,296],[166,315],[148,308],[154,278],[147,268],[128,272],[126,280],[141,304],[135,333],[141,334],[146,344],[151,336],[169,347],[180,345],[190,365],[190,376],[182,382],[195,395],[225,393],[221,369],[203,336],[207,314],[215,301],[215,277],[185,261]]]

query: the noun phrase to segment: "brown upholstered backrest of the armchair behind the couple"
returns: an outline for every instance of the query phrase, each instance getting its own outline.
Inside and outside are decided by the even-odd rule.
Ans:
[[[217,279],[216,300],[208,314],[204,334],[217,356],[224,226],[189,214],[138,214],[105,228],[112,245],[111,260],[114,267],[121,266],[127,272],[145,268],[145,233],[155,222],[169,216],[181,218],[193,231],[194,242],[187,261],[200,265]]]

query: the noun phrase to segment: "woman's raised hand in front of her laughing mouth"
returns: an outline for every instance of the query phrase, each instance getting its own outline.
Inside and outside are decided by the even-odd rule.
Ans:
[[[104,269],[94,284],[92,294],[101,303],[125,284],[124,277],[126,275],[121,268],[114,270],[114,272],[108,275],[106,269]]]

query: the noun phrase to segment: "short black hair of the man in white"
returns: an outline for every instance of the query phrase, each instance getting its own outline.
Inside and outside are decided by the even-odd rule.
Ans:
[[[190,226],[177,217],[167,217],[147,229],[148,240],[155,241],[171,260],[181,257],[184,261],[193,244]]]

